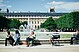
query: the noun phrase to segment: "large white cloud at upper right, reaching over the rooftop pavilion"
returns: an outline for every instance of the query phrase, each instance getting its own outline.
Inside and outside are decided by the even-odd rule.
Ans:
[[[47,5],[45,5],[46,8],[47,7],[55,7],[56,11],[60,11],[60,12],[70,12],[73,10],[79,10],[79,2],[49,2],[47,3]]]

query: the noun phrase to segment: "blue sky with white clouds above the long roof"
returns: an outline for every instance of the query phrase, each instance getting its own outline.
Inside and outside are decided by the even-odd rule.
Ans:
[[[79,0],[0,0],[0,8],[17,12],[48,12],[54,7],[56,12],[79,10]]]

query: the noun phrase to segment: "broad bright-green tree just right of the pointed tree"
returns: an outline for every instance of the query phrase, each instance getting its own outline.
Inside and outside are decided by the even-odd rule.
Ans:
[[[60,17],[58,20],[56,20],[57,22],[57,27],[58,28],[72,28],[72,24],[73,24],[73,18],[72,15],[70,14],[66,14],[62,17]]]

